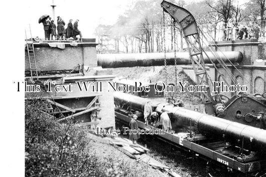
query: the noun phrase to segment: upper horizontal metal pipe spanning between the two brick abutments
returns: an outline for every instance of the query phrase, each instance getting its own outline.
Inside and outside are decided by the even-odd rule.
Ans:
[[[209,58],[218,63],[216,57],[211,52],[206,52]],[[236,51],[217,52],[220,58],[224,62],[241,62],[243,54]],[[188,52],[178,52],[177,64],[188,65],[191,64],[190,56]],[[211,63],[206,54],[204,53],[204,62],[206,64]],[[127,53],[127,54],[98,54],[97,55],[98,66],[102,68],[119,68],[119,67],[135,67],[135,66],[163,66],[164,65],[164,53]],[[175,64],[175,54],[166,53],[167,65]]]

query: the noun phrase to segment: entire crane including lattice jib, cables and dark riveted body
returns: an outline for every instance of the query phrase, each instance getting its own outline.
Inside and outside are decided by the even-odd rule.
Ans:
[[[198,27],[194,16],[188,10],[178,6],[175,2],[170,0],[163,0],[161,2],[161,6],[163,7],[163,13],[168,13],[174,19],[174,23],[179,24],[180,30],[182,30],[184,34],[197,84],[208,86],[213,84],[205,68],[205,61],[203,57],[204,53],[216,68],[217,72],[221,75],[224,82],[228,86],[230,86],[228,81],[224,78],[223,74],[221,74],[221,72],[216,67],[216,64],[208,56],[208,52],[203,49],[202,43],[205,43],[206,40],[204,40],[204,38],[206,39],[206,37],[204,32]],[[207,46],[209,47],[212,55],[216,57],[216,60],[219,61],[220,65],[229,74],[232,83],[234,85],[238,85],[237,79],[232,74],[224,60],[221,59],[212,45],[208,44]],[[235,67],[235,65],[230,60],[228,61],[232,64],[232,66]],[[236,70],[238,69],[236,68]],[[217,96],[219,97],[219,100],[215,99],[215,97],[211,94],[210,87],[206,88],[207,91],[200,92],[200,94],[202,101],[205,104],[205,110],[207,114],[224,117],[225,119],[245,123],[248,125],[253,124],[253,126],[258,127],[256,114],[259,113],[259,111],[266,112],[266,97],[264,96],[265,94],[248,95],[246,93],[234,93],[234,96],[232,98],[226,98],[227,101],[222,101],[218,92]],[[249,109],[247,109],[247,107],[245,106],[247,104],[250,104]],[[229,113],[226,113],[227,110],[229,111]]]

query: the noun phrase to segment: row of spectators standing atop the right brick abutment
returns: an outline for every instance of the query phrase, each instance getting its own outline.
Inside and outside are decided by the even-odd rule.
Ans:
[[[245,40],[245,39],[259,39],[259,37],[265,37],[266,29],[261,30],[259,24],[256,24],[255,27],[252,25],[238,27],[228,26],[225,29],[226,40]]]

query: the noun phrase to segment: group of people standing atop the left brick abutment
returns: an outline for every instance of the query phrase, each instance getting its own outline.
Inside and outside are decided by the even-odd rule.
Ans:
[[[45,40],[65,40],[65,39],[73,39],[77,40],[76,36],[79,35],[80,39],[82,38],[82,34],[78,29],[78,19],[72,24],[72,19],[69,20],[66,28],[65,22],[60,17],[57,16],[57,34],[56,34],[56,25],[54,24],[54,20],[51,17],[46,17],[43,21],[43,29],[44,29],[44,36]]]

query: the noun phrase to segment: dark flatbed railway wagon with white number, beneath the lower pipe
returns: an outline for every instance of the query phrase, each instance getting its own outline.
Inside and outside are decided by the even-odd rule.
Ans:
[[[131,110],[132,111],[132,110]],[[133,110],[134,111],[134,110]],[[129,111],[123,108],[115,110],[115,119],[125,125],[131,121],[128,115]],[[137,120],[138,127],[142,130],[161,129],[146,125],[144,121]],[[184,129],[183,129],[184,131]],[[193,152],[196,156],[211,161],[219,167],[223,167],[232,173],[240,173],[243,176],[261,177],[266,172],[266,158],[253,151],[232,145],[226,140],[207,137],[195,131],[184,132],[165,132],[163,134],[154,134],[158,139],[165,141],[177,148]],[[239,144],[242,144],[240,142]]]

